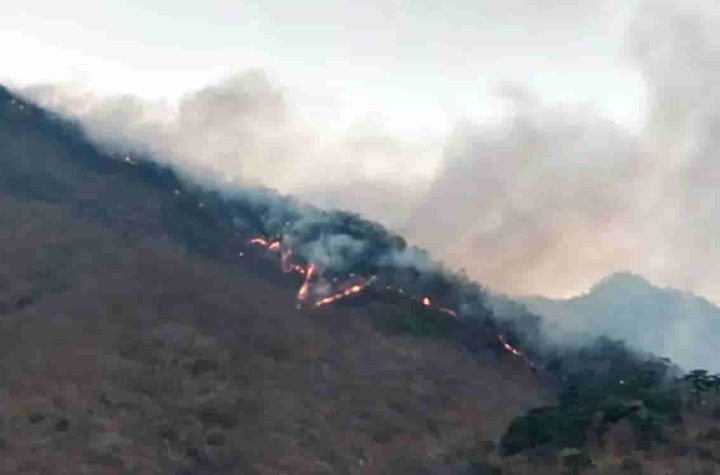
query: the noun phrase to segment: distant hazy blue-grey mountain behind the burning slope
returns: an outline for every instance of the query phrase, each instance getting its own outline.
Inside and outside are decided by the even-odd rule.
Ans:
[[[607,335],[671,358],[685,368],[720,371],[720,308],[628,272],[612,274],[567,300],[522,299],[568,339]],[[562,330],[560,330],[562,329]]]

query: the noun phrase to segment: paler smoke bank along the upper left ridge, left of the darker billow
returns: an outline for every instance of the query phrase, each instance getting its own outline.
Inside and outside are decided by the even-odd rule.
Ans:
[[[422,190],[424,172],[413,173],[413,164],[432,148],[370,127],[328,133],[293,110],[261,71],[190,92],[176,104],[98,97],[73,84],[23,93],[78,120],[107,151],[151,156],[213,186],[270,186],[388,226],[397,226]]]

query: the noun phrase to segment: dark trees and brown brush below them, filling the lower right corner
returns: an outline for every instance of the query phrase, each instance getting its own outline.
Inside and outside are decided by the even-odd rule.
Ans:
[[[549,367],[564,374],[557,403],[510,423],[497,473],[535,473],[535,465],[543,473],[652,474],[653,460],[676,467],[671,473],[720,468],[720,375],[681,374],[667,359],[608,339]]]

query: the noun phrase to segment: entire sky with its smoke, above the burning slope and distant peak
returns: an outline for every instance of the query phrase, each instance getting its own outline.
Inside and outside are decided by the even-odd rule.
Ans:
[[[0,81],[204,179],[402,232],[491,289],[720,302],[718,7],[26,0]]]

